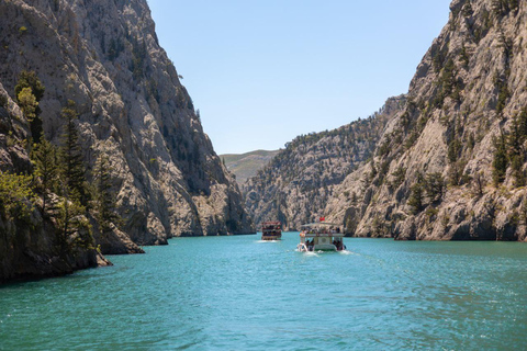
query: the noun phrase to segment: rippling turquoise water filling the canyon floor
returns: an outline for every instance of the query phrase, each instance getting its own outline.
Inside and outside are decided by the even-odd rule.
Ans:
[[[181,238],[0,287],[0,350],[525,350],[527,245]]]

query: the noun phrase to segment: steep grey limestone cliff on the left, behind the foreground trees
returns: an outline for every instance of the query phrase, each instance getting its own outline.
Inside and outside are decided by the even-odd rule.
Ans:
[[[109,252],[128,239],[253,231],[235,180],[159,47],[146,0],[2,1],[0,32],[5,90],[22,70],[35,71],[46,87],[46,136],[58,144],[60,110],[74,102],[86,162],[110,158],[125,225]]]

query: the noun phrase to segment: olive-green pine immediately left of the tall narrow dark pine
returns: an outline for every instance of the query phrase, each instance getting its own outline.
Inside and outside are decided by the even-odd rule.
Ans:
[[[57,148],[42,136],[40,144],[35,145],[31,152],[31,159],[35,166],[34,176],[38,179],[36,190],[42,195],[42,214],[45,215],[51,194],[57,183]]]

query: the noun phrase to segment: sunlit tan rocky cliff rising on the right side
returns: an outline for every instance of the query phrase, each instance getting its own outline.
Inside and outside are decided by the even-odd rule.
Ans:
[[[450,10],[373,161],[328,202],[328,219],[350,235],[526,239],[527,3]]]

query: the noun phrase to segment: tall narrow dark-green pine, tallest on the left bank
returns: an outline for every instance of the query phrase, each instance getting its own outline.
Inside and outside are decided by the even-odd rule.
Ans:
[[[65,181],[64,195],[81,205],[87,205],[89,194],[86,186],[82,150],[77,129],[77,112],[70,107],[63,109],[65,120],[63,145],[60,147],[60,172]]]

